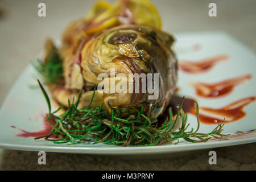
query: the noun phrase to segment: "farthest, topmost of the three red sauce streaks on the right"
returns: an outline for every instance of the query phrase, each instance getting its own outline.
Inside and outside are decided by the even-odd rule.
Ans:
[[[207,59],[203,59],[200,61],[180,61],[179,69],[187,73],[201,73],[209,71],[213,68],[214,65],[219,63],[220,61],[227,60],[229,58],[228,55],[218,55],[213,57],[208,57]]]

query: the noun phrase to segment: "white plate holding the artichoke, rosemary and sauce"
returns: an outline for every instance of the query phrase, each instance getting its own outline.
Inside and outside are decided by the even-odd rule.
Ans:
[[[179,60],[200,60],[205,57],[228,54],[228,61],[217,64],[211,71],[190,75],[179,72],[180,94],[196,98],[200,106],[222,107],[237,101],[240,98],[255,96],[256,59],[254,52],[247,49],[241,43],[234,40],[224,32],[198,32],[176,35],[175,48]],[[195,46],[196,45],[196,46]],[[199,46],[200,45],[200,46]],[[253,78],[245,84],[237,86],[232,93],[214,100],[200,98],[195,95],[195,90],[188,86],[188,82],[216,82],[250,73]],[[234,135],[229,140],[210,140],[205,143],[167,144],[165,146],[148,147],[119,147],[104,144],[53,144],[46,140],[34,140],[33,138],[16,137],[23,129],[26,131],[39,131],[43,127],[43,113],[47,111],[47,104],[40,89],[31,89],[29,85],[36,85],[39,76],[31,65],[20,75],[10,93],[6,97],[0,111],[0,147],[14,150],[72,152],[84,154],[160,154],[167,152],[180,152],[200,150],[213,147],[232,146],[256,142],[255,133]],[[224,126],[224,133],[234,134],[236,131],[249,131],[256,129],[256,105],[247,105],[246,117],[240,121],[228,123]],[[188,115],[191,127],[196,127],[196,118]],[[15,126],[15,128],[11,127]],[[201,123],[200,132],[208,133],[216,125]]]

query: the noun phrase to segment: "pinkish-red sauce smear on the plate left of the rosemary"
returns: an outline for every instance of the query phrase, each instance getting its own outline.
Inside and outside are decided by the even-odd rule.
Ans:
[[[22,137],[22,138],[33,137],[33,138],[36,138],[36,137],[42,137],[44,135],[48,135],[50,133],[50,131],[52,130],[52,127],[46,121],[46,116],[44,116],[43,121],[44,122],[43,122],[43,129],[42,130],[39,130],[39,131],[36,131],[36,132],[30,132],[30,131],[18,129],[20,131],[20,133],[17,134],[16,137]],[[51,122],[52,125],[53,125],[53,121],[49,120],[49,122]],[[16,129],[15,126],[11,126],[11,127]],[[54,137],[54,136],[52,136],[52,137]]]

